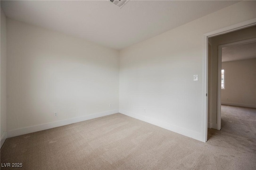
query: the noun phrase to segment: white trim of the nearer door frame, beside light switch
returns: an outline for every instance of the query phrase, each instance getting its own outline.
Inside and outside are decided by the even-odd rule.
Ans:
[[[234,25],[230,25],[228,27],[224,27],[221,29],[217,29],[215,31],[211,31],[211,32],[205,33],[203,35],[202,141],[204,141],[204,142],[207,141],[207,128],[208,128],[208,96],[207,96],[207,93],[208,93],[208,38],[215,37],[217,35],[222,35],[225,33],[230,33],[232,31],[237,31],[239,29],[251,27],[254,25],[256,25],[256,18],[253,18],[251,20],[247,20],[244,22],[240,22],[240,23],[237,23]],[[220,68],[221,68],[221,66],[220,66]],[[219,92],[218,92],[218,94],[219,94]],[[218,105],[218,102],[220,102],[220,96],[218,96],[217,98],[219,99],[219,100],[217,99],[217,105]],[[220,116],[219,116],[219,118],[220,118]],[[221,120],[221,118],[220,118],[220,120]],[[218,121],[218,117],[217,117],[217,121]]]

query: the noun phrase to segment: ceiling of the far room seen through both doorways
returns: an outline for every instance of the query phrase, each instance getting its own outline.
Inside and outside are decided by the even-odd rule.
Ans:
[[[222,49],[222,62],[256,58],[256,42]]]

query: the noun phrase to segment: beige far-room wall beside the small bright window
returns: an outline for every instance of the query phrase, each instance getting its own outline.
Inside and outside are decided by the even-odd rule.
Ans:
[[[225,89],[221,103],[256,108],[256,59],[223,62]]]

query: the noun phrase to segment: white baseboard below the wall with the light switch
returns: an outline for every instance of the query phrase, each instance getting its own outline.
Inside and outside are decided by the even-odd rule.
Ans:
[[[121,110],[119,110],[119,112],[124,114],[124,115],[133,117],[135,119],[139,119],[141,121],[145,121],[147,123],[162,127],[162,128],[167,129],[169,131],[173,131],[173,132],[179,133],[181,135],[191,137],[191,138],[196,139],[198,141],[205,142],[205,140],[202,139],[202,133],[198,133],[196,131],[191,131],[190,129],[186,129],[186,128],[183,128],[183,127],[178,127],[176,125],[172,125],[172,124],[166,123],[164,121],[160,121],[160,120],[157,120],[157,119],[146,117],[144,115],[134,114],[134,113],[131,113],[130,111],[127,111],[127,110],[121,109]]]

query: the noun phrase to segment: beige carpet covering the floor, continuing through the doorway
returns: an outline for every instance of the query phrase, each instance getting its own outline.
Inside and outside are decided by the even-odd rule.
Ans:
[[[6,139],[1,163],[24,170],[255,170],[256,109],[222,106],[222,115],[222,130],[209,129],[203,143],[117,113]]]

